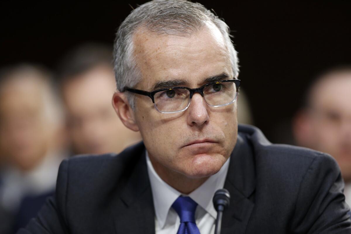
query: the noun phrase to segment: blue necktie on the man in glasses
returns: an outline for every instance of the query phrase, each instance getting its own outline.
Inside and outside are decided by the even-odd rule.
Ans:
[[[188,196],[179,196],[172,207],[179,215],[180,225],[177,234],[200,234],[195,223],[197,203]]]

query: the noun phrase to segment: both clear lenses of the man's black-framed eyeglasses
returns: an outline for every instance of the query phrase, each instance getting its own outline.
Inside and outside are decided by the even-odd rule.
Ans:
[[[210,106],[231,103],[236,98],[234,82],[218,82],[204,87],[204,98]],[[190,101],[190,91],[185,88],[170,88],[155,93],[156,108],[161,112],[176,112],[185,109]]]

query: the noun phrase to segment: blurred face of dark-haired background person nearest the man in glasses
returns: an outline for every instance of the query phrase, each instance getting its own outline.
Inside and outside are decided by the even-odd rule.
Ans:
[[[119,153],[140,140],[127,129],[111,104],[115,91],[113,69],[97,66],[65,81],[62,95],[74,153]]]

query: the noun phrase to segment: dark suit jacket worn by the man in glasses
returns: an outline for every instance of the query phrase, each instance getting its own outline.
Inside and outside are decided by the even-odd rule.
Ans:
[[[239,126],[221,233],[351,233],[343,186],[330,156],[272,145],[259,129]],[[19,233],[151,234],[154,216],[145,147],[139,143],[118,156],[64,160],[55,197]]]

